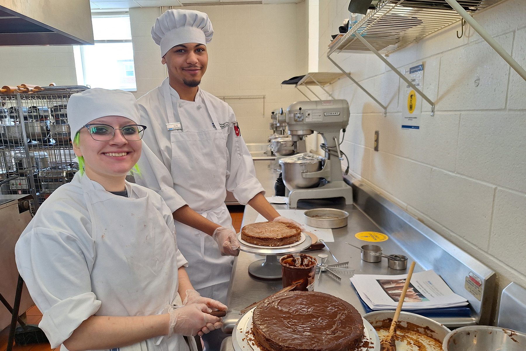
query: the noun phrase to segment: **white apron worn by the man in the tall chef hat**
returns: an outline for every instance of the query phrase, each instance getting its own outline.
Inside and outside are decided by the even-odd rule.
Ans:
[[[205,94],[201,95],[216,129],[185,132],[186,117],[181,117],[177,109],[174,111],[168,78],[163,81],[162,87],[168,123],[180,122],[183,128],[170,132],[172,176],[177,178],[178,183],[183,183],[190,189],[203,187],[203,184],[210,189],[225,189],[227,160],[230,158],[226,147],[227,135],[219,128],[216,112],[211,108],[208,98]],[[177,106],[178,99],[175,103]],[[206,167],[210,164],[215,165],[214,172],[210,171],[210,167]],[[220,206],[197,212],[212,222],[233,230],[232,219],[224,204],[224,198],[225,196],[222,196]],[[191,199],[185,200],[192,207]],[[177,221],[175,227],[179,249],[189,262],[186,270],[194,288],[199,290],[229,282],[234,257],[221,256],[217,243],[208,234]],[[226,288],[224,290],[207,297],[219,299],[221,296],[226,296]],[[221,302],[226,303],[224,298],[221,298]]]

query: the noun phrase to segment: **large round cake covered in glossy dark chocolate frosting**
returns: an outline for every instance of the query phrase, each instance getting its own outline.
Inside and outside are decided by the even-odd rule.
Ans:
[[[256,341],[270,351],[347,351],[360,346],[356,308],[324,293],[293,291],[269,297],[252,315]]]

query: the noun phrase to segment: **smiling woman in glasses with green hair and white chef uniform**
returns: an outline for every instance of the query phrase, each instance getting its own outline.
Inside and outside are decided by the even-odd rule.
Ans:
[[[147,133],[134,96],[74,94],[68,120],[81,170],[42,204],[15,249],[39,327],[63,351],[195,349],[184,335],[219,328],[208,313],[227,307],[190,284],[164,200],[125,181]]]

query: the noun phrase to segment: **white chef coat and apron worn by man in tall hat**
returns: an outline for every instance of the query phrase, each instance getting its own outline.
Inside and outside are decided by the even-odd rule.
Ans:
[[[166,104],[165,97],[171,103]],[[156,191],[164,189],[159,194],[172,211],[186,203],[212,222],[232,228],[225,206],[226,190],[239,203],[247,204],[264,189],[256,178],[252,157],[239,129],[236,131],[236,117],[230,106],[202,89],[194,102],[181,101],[168,78],[140,97],[138,103],[140,124],[147,126],[143,140],[152,153],[141,156],[139,167],[144,172],[136,182]],[[182,130],[168,131],[167,124],[177,122]],[[158,162],[148,159],[152,155],[164,167],[152,169]],[[169,179],[166,174],[171,175],[171,184],[160,184],[161,179]],[[173,192],[167,190],[170,187]],[[190,263],[188,275],[194,287],[200,290],[228,282],[234,258],[220,256],[209,235],[179,222],[175,225],[179,248]],[[219,290],[208,297],[226,302],[226,289]]]

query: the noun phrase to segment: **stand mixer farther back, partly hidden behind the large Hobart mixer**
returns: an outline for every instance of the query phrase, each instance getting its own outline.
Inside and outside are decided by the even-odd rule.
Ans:
[[[273,110],[270,113],[270,119],[272,120],[272,122],[270,122],[270,129],[274,131],[274,133],[269,136],[268,141],[270,145],[267,154],[276,155],[274,169],[280,171],[281,166],[279,165],[279,160],[281,158],[306,152],[305,138],[301,137],[298,140],[289,139],[289,136],[285,132],[287,123],[286,112],[283,108]]]

